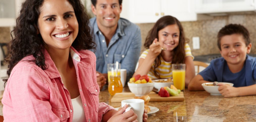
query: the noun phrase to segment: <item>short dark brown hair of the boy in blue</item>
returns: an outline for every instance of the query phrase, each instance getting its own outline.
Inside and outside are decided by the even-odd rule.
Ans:
[[[246,46],[251,43],[249,31],[244,26],[242,26],[240,24],[229,24],[229,25],[222,27],[218,33],[218,36],[217,36],[218,48],[220,49],[220,51],[221,51],[221,48],[220,48],[221,38],[223,36],[232,35],[232,34],[241,34],[244,38]]]

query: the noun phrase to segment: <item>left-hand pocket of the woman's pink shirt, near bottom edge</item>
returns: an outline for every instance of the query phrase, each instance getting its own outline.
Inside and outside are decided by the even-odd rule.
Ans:
[[[59,117],[60,121],[66,121],[70,117],[70,114],[67,108],[54,106],[54,105],[51,105],[51,106],[52,106],[52,112],[57,117]]]

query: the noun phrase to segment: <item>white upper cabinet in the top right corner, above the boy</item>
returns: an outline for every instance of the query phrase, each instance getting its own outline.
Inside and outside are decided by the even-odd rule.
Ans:
[[[255,11],[255,0],[195,0],[196,13]]]

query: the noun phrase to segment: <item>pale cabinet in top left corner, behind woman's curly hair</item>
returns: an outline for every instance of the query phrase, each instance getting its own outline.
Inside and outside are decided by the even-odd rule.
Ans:
[[[0,0],[0,27],[15,26],[16,17],[24,0]]]

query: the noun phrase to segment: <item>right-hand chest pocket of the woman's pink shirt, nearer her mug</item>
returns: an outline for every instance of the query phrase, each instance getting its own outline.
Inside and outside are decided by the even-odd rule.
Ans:
[[[98,84],[94,84],[93,86],[88,88],[90,92],[90,97],[94,106],[94,110],[98,113],[98,106],[99,106],[99,93],[100,88]]]

